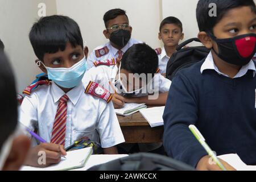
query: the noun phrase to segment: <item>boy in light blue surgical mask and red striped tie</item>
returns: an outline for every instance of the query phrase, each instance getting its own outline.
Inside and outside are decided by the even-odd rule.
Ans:
[[[64,147],[81,138],[100,143],[105,154],[117,154],[115,145],[125,140],[110,102],[112,95],[96,82],[81,82],[87,64],[77,23],[67,16],[43,17],[32,26],[30,41],[38,57],[36,65],[48,79],[24,90],[27,96],[19,121],[37,130],[47,143],[32,147],[26,164],[59,163],[66,155]],[[46,152],[46,164],[38,164],[39,151]]]

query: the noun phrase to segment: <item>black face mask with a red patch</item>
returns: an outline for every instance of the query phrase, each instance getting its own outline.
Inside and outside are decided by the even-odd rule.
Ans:
[[[217,39],[212,34],[210,38],[217,43],[218,53],[213,49],[220,59],[234,65],[246,65],[250,62],[256,52],[256,34],[245,34],[229,39]]]

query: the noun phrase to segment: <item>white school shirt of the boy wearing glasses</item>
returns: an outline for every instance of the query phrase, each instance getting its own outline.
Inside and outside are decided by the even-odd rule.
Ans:
[[[138,40],[135,39],[130,39],[129,42],[126,44],[125,47],[123,47],[121,49],[122,53],[125,53],[127,51],[127,49],[129,49],[131,46],[133,46],[134,44],[138,44],[138,43],[142,43]],[[96,53],[95,51],[104,47],[108,47],[109,52],[106,53],[104,56],[101,57],[96,57]],[[102,45],[102,46],[98,46],[97,48],[93,49],[93,52],[90,53],[90,56],[87,59],[87,70],[89,70],[90,68],[94,67],[94,61],[104,61],[104,60],[111,60],[111,59],[117,59],[118,57],[118,49],[114,48],[110,42]],[[111,68],[113,68],[114,66],[110,66]]]

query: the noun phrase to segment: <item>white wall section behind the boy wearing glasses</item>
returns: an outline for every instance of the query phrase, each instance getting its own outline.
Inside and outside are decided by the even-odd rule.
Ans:
[[[68,15],[79,23],[89,52],[108,42],[102,33],[105,29],[103,16],[106,11],[114,8],[127,11],[133,27],[133,38],[146,42],[153,48],[160,45],[159,0],[56,0],[56,3],[58,14]]]

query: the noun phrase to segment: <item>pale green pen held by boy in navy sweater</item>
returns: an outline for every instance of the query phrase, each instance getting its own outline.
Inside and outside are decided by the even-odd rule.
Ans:
[[[189,130],[192,132],[192,134],[196,137],[197,140],[199,140],[199,143],[204,147],[204,149],[207,151],[208,155],[213,159],[213,161],[220,167],[223,171],[226,171],[226,168],[223,166],[223,164],[218,160],[217,156],[214,154],[214,152],[210,149],[208,144],[205,142],[205,139],[203,135],[200,133],[200,131],[196,128],[195,125],[189,125]]]

